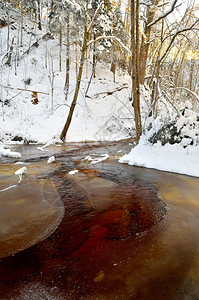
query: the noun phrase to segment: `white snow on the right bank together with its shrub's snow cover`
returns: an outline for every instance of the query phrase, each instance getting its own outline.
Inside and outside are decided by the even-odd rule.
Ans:
[[[149,120],[148,120],[149,121]],[[164,145],[166,134],[170,135],[173,122],[177,128],[178,143]],[[169,125],[170,132],[158,135],[159,130]],[[151,143],[150,139],[158,135],[160,140]],[[174,172],[199,177],[199,118],[198,114],[191,110],[191,105],[186,101],[185,107],[175,119],[164,123],[160,117],[151,123],[151,129],[146,130],[139,144],[129,154],[119,159],[120,163],[133,166],[152,168],[161,171]],[[161,140],[162,139],[162,140]],[[162,143],[161,143],[162,142]]]

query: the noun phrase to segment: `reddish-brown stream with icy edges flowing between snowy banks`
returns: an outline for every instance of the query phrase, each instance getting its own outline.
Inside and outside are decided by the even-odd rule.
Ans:
[[[0,299],[199,299],[199,179],[117,163],[127,142],[16,148],[23,164],[0,164]]]

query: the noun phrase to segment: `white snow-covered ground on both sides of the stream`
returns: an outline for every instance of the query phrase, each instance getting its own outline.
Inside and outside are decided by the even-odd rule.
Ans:
[[[12,24],[12,28],[10,43],[14,37],[16,45],[17,21]],[[45,33],[45,29],[39,31],[36,25],[26,21],[23,46],[19,48],[18,65],[15,64],[18,53],[14,50],[9,67],[5,64],[8,28],[0,29],[0,156],[19,158],[20,153],[12,152],[8,148],[8,145],[13,143],[35,142],[50,145],[61,142],[59,136],[69,112],[76,83],[75,49],[71,46],[73,55],[66,101],[65,49],[62,49],[60,71],[58,39],[46,41],[42,38]],[[35,41],[38,41],[38,47],[31,47],[27,53]],[[92,63],[88,57],[66,142],[108,141],[133,137],[135,130],[133,108],[129,101],[130,78],[120,73],[116,76],[116,82],[113,82],[110,66],[98,63],[96,78],[92,79],[85,97],[91,73]],[[120,88],[121,90],[117,91]],[[37,91],[36,105],[32,103],[31,91]],[[145,106],[148,95],[149,91],[142,90],[142,100],[146,100],[142,111],[147,110]],[[163,104],[162,115],[168,113],[168,106]],[[144,124],[144,114],[142,117]],[[143,137],[140,144],[119,162],[199,177],[199,146],[183,148],[182,144],[151,145]]]

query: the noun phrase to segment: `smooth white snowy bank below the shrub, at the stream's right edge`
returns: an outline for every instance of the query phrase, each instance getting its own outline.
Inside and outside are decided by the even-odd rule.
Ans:
[[[180,144],[140,143],[119,162],[199,177],[199,145],[183,148]]]

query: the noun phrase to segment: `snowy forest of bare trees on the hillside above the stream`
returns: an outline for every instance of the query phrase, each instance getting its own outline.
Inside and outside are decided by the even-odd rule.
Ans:
[[[1,140],[197,145],[198,29],[194,0],[1,1]]]

